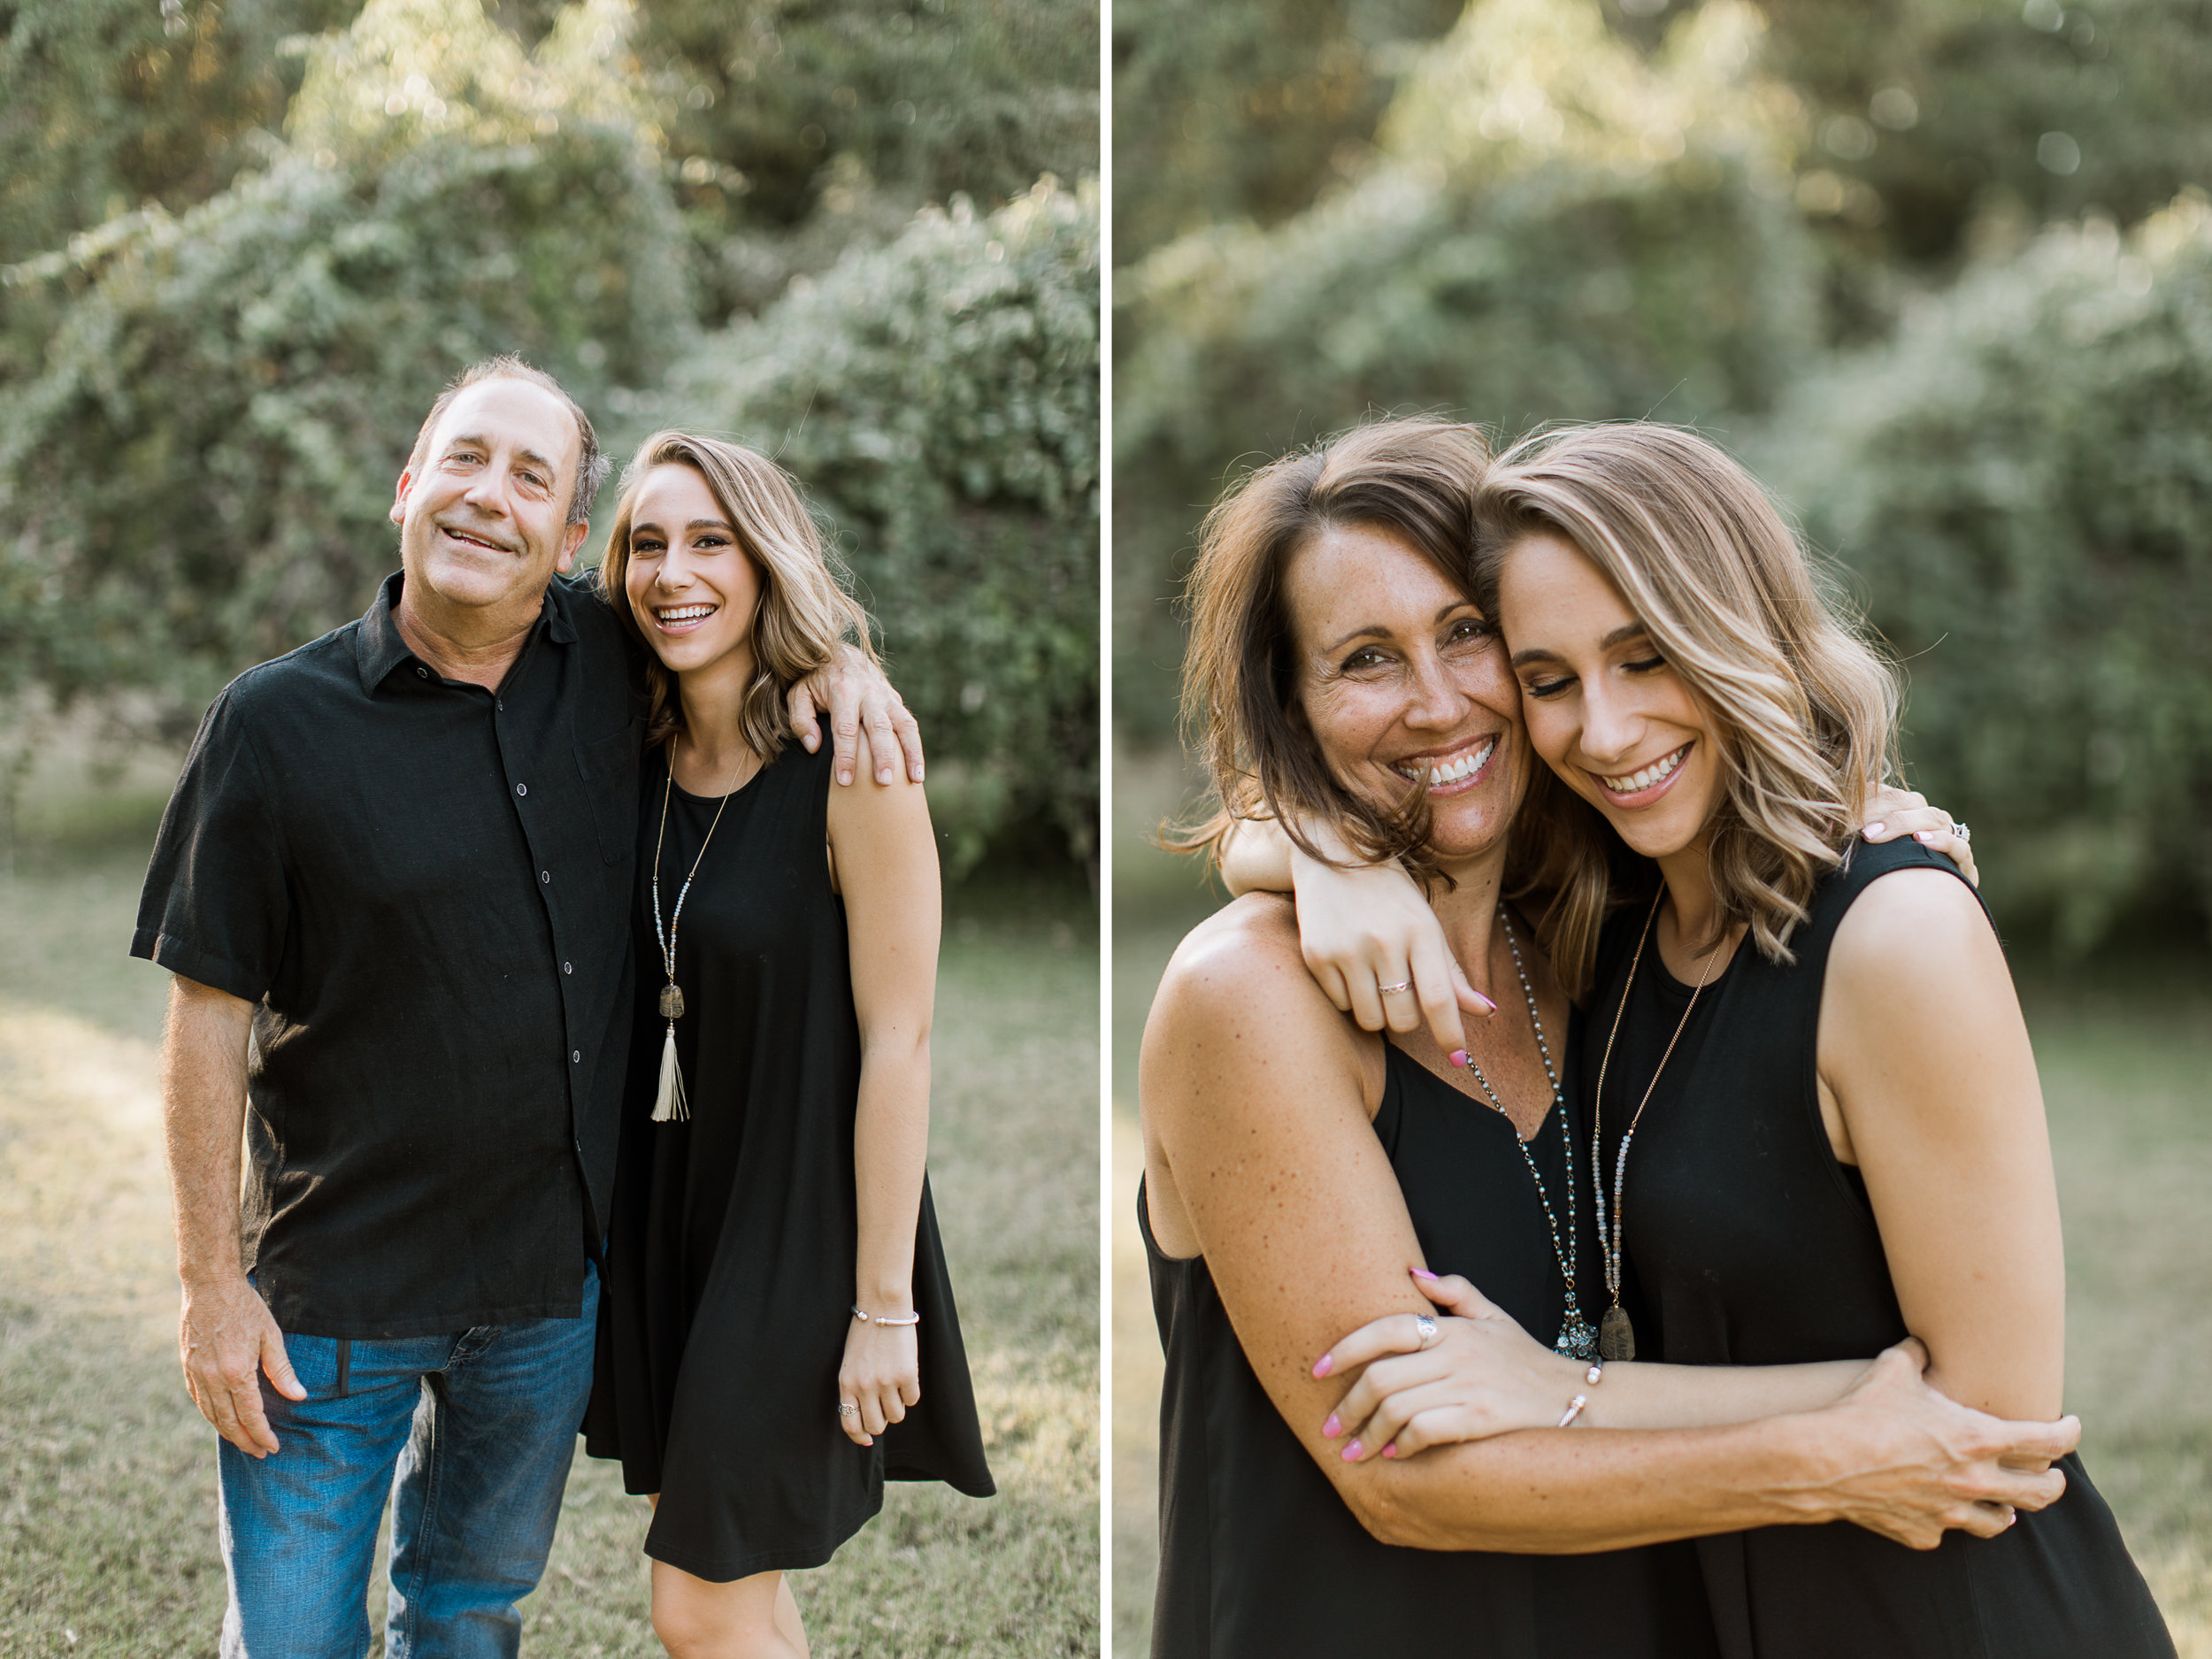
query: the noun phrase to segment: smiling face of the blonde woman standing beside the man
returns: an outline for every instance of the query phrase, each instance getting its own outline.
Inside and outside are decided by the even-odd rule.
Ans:
[[[637,487],[622,586],[672,672],[697,672],[732,650],[750,655],[761,573],[697,467],[666,462]]]

